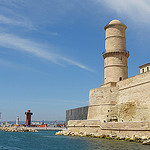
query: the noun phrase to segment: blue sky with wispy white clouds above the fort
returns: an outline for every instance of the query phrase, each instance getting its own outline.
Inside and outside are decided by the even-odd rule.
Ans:
[[[2,121],[65,120],[103,84],[104,26],[127,25],[129,77],[150,62],[149,0],[0,0]]]

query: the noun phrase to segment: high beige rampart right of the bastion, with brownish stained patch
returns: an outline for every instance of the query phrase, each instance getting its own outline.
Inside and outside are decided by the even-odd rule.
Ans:
[[[119,121],[150,121],[150,72],[120,81]]]

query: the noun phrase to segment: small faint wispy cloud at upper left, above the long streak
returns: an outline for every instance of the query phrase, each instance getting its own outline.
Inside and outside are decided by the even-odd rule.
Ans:
[[[14,25],[14,26],[21,26],[33,29],[32,23],[27,20],[16,20],[12,18],[8,18],[6,16],[0,15],[0,24],[7,24],[7,25]]]

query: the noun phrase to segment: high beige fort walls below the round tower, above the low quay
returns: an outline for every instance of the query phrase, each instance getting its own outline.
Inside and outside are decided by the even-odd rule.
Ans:
[[[108,84],[90,90],[88,120],[150,121],[150,72]]]

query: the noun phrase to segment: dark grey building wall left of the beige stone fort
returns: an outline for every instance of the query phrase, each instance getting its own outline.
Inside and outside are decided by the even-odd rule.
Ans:
[[[86,120],[88,106],[66,110],[66,124],[69,120]]]

